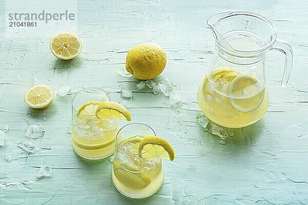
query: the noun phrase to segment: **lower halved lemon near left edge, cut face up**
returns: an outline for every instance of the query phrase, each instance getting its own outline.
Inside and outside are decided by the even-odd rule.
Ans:
[[[54,91],[46,85],[37,85],[26,91],[25,104],[31,108],[42,109],[48,107],[54,96]]]

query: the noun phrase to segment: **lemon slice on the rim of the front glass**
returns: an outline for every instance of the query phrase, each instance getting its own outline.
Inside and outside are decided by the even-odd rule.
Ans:
[[[158,136],[146,136],[139,142],[140,158],[162,157],[173,161],[176,158],[175,150],[169,142]]]

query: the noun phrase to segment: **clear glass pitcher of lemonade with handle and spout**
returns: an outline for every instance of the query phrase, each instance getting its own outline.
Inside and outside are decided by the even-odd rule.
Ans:
[[[292,69],[292,48],[276,38],[271,21],[256,13],[218,13],[207,24],[216,40],[215,51],[198,90],[198,104],[210,120],[223,127],[251,125],[268,108],[264,72],[267,52],[285,54],[281,85],[286,86]]]

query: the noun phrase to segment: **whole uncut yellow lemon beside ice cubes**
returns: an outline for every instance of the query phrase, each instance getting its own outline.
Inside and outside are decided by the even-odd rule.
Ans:
[[[143,43],[128,52],[125,68],[134,77],[146,80],[161,74],[166,63],[166,53],[159,45]]]

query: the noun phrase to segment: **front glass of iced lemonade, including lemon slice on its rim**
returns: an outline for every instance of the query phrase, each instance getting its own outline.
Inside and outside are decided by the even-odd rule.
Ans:
[[[133,123],[117,134],[113,157],[113,185],[123,195],[145,198],[156,193],[163,184],[161,158],[173,160],[173,148],[156,137],[148,126]]]

